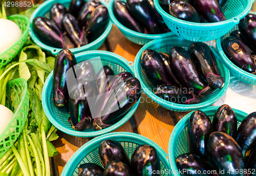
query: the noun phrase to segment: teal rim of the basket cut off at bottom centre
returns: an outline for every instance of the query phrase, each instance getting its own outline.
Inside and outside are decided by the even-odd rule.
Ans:
[[[92,152],[93,149],[95,149],[95,144],[98,144],[100,141],[106,140],[106,139],[112,139],[115,140],[115,137],[122,137],[124,140],[127,142],[133,142],[134,141],[140,141],[142,143],[152,145],[153,147],[156,148],[158,154],[161,156],[161,158],[164,158],[164,166],[168,169],[170,169],[169,162],[167,160],[167,154],[164,152],[164,150],[154,141],[151,139],[148,139],[142,135],[135,134],[135,133],[129,133],[129,132],[114,132],[114,133],[109,133],[105,134],[99,137],[96,137],[89,142],[83,144],[75,153],[74,155],[69,159],[68,163],[64,167],[61,176],[66,176],[66,175],[72,175],[75,171],[75,168],[78,166],[78,164],[81,162],[80,160],[77,160],[77,158],[82,158],[81,156],[86,157],[88,154]],[[83,157],[83,158],[84,158]]]

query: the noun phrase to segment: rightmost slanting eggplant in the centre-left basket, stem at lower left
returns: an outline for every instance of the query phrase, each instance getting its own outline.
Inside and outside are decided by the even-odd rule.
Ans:
[[[141,96],[140,81],[134,77],[127,78],[114,89],[101,111],[101,117],[94,119],[95,130],[108,128],[121,120]]]

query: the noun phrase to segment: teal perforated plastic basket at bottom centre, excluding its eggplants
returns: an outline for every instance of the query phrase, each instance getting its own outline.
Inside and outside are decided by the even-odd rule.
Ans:
[[[158,144],[144,136],[135,133],[118,132],[96,137],[81,146],[70,158],[69,162],[64,167],[61,176],[78,176],[78,168],[83,163],[95,163],[102,166],[98,155],[98,148],[100,143],[106,139],[118,141],[124,147],[125,152],[130,159],[132,158],[133,152],[139,145],[148,144],[155,147],[160,158],[160,169],[163,171],[167,169],[167,172],[169,172],[170,167],[167,160],[167,154]],[[167,176],[171,174],[165,172],[161,173],[160,175]]]

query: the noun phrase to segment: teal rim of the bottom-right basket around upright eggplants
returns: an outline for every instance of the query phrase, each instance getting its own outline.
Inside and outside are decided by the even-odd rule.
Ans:
[[[210,107],[207,107],[207,108],[204,108],[204,109],[200,109],[201,111],[203,111],[204,113],[207,114],[207,112],[209,111],[217,111],[217,109],[219,108],[220,106],[210,106]],[[241,111],[241,110],[238,110],[238,109],[234,109],[232,108],[232,110],[234,111],[234,113],[236,114],[239,114],[241,116],[244,116],[246,117],[247,116],[247,113]],[[187,115],[185,115],[176,125],[175,125],[175,128],[172,132],[172,134],[170,134],[170,139],[169,139],[169,143],[168,143],[168,159],[169,159],[169,164],[170,164],[170,167],[172,170],[174,170],[174,176],[180,176],[180,174],[177,174],[175,173],[175,170],[178,170],[176,164],[175,164],[175,144],[177,142],[177,139],[180,135],[180,133],[184,130],[184,128],[186,127],[186,122],[189,120],[189,117],[191,116],[191,114],[193,113],[194,111],[188,113]]]

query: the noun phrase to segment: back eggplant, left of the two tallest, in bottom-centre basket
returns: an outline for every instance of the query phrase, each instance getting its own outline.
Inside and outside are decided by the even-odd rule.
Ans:
[[[114,161],[121,161],[127,166],[131,166],[131,161],[123,146],[115,140],[104,140],[99,146],[99,158],[103,166]]]

